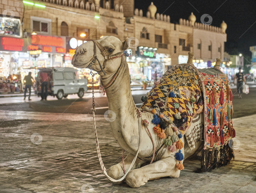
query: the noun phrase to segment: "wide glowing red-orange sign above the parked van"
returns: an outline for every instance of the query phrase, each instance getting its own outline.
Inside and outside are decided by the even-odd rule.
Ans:
[[[32,35],[31,38],[31,44],[58,47],[63,46],[63,39],[59,37]]]

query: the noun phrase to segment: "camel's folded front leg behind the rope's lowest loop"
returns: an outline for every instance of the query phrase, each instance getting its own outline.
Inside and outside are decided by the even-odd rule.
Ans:
[[[125,159],[124,159],[124,162],[125,162],[125,171],[127,172],[130,165],[131,165],[131,162],[133,161],[135,155],[132,155],[132,154],[128,154]],[[143,161],[141,159],[139,159],[137,157],[133,167],[131,168],[131,171],[133,169],[136,169],[136,168],[140,168],[141,167],[141,164],[145,163],[146,161]],[[130,173],[130,172],[129,172]],[[111,178],[114,178],[114,179],[120,179],[122,178],[125,174],[124,174],[124,171],[123,171],[123,162],[121,161],[120,163],[114,165],[114,166],[111,166],[108,170],[107,170],[107,175],[109,175]],[[123,180],[125,181],[125,179]],[[112,182],[113,184],[121,184],[123,181],[120,181],[120,182]]]

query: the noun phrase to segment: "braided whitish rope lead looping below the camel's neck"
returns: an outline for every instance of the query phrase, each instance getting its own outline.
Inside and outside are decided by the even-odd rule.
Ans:
[[[93,122],[94,122],[94,132],[95,132],[95,141],[96,141],[96,146],[97,146],[97,154],[98,154],[98,158],[99,158],[99,161],[100,161],[101,169],[110,181],[112,181],[112,182],[121,182],[123,179],[125,179],[126,175],[131,171],[131,168],[133,167],[133,165],[134,165],[134,163],[137,159],[137,156],[139,154],[140,145],[141,145],[141,124],[142,124],[141,111],[139,109],[137,109],[138,125],[139,125],[139,147],[138,147],[137,153],[136,153],[133,161],[131,162],[131,165],[130,165],[128,171],[125,173],[125,175],[122,178],[120,178],[118,180],[116,180],[114,178],[111,178],[109,175],[107,175],[107,170],[104,167],[104,164],[103,164],[103,161],[102,161],[102,158],[101,158],[101,151],[100,151],[100,146],[99,146],[99,141],[98,141],[98,136],[97,136],[96,121],[95,121],[95,108],[93,108],[92,111],[93,111]]]

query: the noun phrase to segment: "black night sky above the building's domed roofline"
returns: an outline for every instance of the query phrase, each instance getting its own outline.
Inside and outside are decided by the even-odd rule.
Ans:
[[[229,54],[242,53],[245,56],[251,56],[249,47],[256,46],[255,0],[151,1],[157,7],[157,13],[170,15],[172,23],[179,23],[180,18],[187,20],[191,12],[196,16],[196,22],[200,22],[200,17],[203,14],[209,14],[212,17],[211,25],[213,26],[219,27],[222,20],[224,20],[228,26],[226,30],[227,42],[225,43],[225,51]],[[142,9],[145,16],[151,1],[135,0],[134,7]]]

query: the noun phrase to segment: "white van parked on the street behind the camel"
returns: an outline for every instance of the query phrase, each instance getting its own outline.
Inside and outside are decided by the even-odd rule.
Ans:
[[[82,98],[84,92],[87,92],[88,80],[79,77],[78,70],[75,68],[42,68],[36,77],[37,95],[41,95],[41,82],[40,73],[47,73],[48,82],[48,95],[56,96],[58,99],[67,97],[69,94],[77,94]]]

